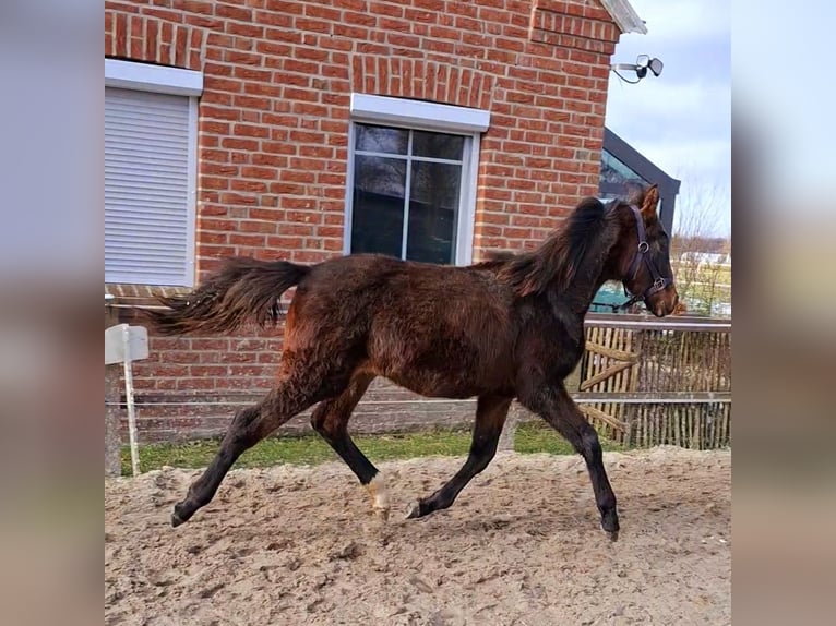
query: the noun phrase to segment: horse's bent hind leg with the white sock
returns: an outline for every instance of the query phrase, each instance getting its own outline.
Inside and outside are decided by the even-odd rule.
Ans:
[[[386,486],[372,462],[355,445],[348,435],[348,420],[357,402],[374,380],[373,374],[358,372],[345,390],[334,398],[323,400],[311,414],[311,425],[357,475],[360,484],[369,490],[372,508],[385,519],[389,516]]]

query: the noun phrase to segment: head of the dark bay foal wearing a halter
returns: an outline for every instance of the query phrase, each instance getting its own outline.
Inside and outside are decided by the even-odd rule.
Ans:
[[[624,285],[631,302],[642,300],[657,317],[670,315],[679,303],[670,267],[670,240],[659,221],[656,184],[629,202],[617,202],[619,237],[609,258],[610,275]]]

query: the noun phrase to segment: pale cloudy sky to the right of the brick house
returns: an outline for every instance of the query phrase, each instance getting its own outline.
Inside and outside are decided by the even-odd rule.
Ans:
[[[631,0],[647,34],[625,34],[613,63],[640,53],[665,68],[637,85],[610,74],[607,127],[662,171],[682,181],[680,218],[703,212],[708,234],[731,229],[731,11],[728,0]],[[635,80],[635,73],[621,72]],[[704,198],[709,198],[705,201]]]

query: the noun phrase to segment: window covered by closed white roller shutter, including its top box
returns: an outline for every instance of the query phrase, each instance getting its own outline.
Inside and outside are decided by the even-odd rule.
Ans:
[[[200,72],[105,61],[105,281],[194,284]]]

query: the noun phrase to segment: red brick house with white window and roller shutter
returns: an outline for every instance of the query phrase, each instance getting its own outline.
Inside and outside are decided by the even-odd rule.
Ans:
[[[630,32],[625,0],[107,0],[108,323],[232,254],[467,264],[537,245],[598,192]],[[280,336],[152,337],[141,436],[223,429],[271,385]],[[357,419],[471,416],[416,399],[381,383]]]

